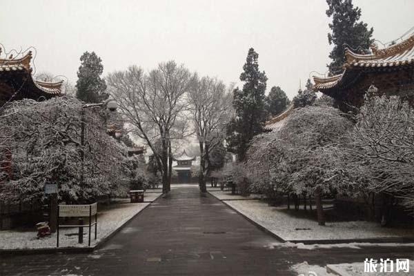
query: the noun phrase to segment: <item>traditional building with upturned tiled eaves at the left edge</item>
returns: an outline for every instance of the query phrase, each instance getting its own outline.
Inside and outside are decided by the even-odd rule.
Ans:
[[[63,81],[46,82],[32,78],[31,59],[32,52],[21,58],[0,59],[0,107],[7,101],[25,98],[38,101],[61,95]]]

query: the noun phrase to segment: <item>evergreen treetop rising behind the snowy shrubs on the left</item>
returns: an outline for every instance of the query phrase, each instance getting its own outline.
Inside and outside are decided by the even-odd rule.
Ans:
[[[102,60],[95,52],[84,52],[81,66],[77,72],[76,97],[87,103],[99,103],[108,98],[106,83],[101,79],[103,72]]]

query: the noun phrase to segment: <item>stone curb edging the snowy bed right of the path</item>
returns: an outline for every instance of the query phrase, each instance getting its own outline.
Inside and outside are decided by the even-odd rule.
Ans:
[[[232,200],[239,200],[239,199],[219,199],[212,193],[209,193],[219,201],[226,204],[226,206],[230,207],[232,210],[235,210],[239,215],[242,215],[245,219],[250,221],[252,224],[255,224],[259,229],[263,230],[264,232],[272,235],[276,239],[279,239],[280,242],[292,242],[294,244],[350,244],[353,242],[359,242],[359,243],[371,243],[371,244],[386,244],[386,243],[397,243],[397,244],[408,244],[413,243],[414,238],[411,237],[383,237],[383,238],[375,238],[375,239],[301,239],[301,240],[285,240],[282,239],[282,237],[279,237],[277,234],[273,233],[272,231],[268,230],[268,228],[262,226],[262,224],[257,223],[253,219],[250,219],[243,213],[239,212],[239,210],[233,208],[229,204],[226,203],[226,201],[232,201]],[[242,199],[243,200],[243,199]]]

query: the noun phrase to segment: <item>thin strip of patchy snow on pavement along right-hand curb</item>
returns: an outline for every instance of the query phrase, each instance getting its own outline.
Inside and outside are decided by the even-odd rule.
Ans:
[[[274,242],[268,244],[266,247],[273,249],[273,248],[298,248],[298,249],[306,249],[306,250],[314,250],[319,248],[353,248],[353,249],[363,249],[365,247],[370,246],[383,246],[383,247],[413,247],[414,244],[396,244],[396,243],[369,243],[369,242],[351,242],[349,244],[303,244],[302,242],[294,243],[294,242]]]

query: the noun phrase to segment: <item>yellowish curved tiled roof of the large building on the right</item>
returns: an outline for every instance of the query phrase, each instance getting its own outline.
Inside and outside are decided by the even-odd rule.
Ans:
[[[414,34],[408,39],[388,48],[378,50],[377,46],[371,46],[372,53],[368,55],[357,54],[350,49],[345,49],[346,62],[344,72],[333,77],[313,77],[314,90],[326,90],[342,83],[344,76],[354,68],[396,68],[398,66],[414,65]]]

